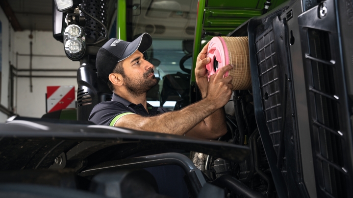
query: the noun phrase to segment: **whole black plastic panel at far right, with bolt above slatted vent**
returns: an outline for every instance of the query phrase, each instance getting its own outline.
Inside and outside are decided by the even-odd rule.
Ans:
[[[352,128],[343,66],[337,1],[298,17],[317,196],[353,197]],[[323,10],[326,10],[324,13]]]

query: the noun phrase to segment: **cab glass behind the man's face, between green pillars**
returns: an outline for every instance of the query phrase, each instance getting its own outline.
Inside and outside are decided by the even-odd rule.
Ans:
[[[158,85],[147,93],[155,107],[180,109],[189,103],[189,84],[197,0],[128,0],[127,40],[141,33],[153,43],[145,57],[155,66]],[[180,61],[184,62],[181,64]],[[176,107],[176,108],[175,108]]]

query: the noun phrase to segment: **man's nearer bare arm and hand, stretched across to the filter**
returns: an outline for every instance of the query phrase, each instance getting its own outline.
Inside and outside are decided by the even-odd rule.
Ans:
[[[208,82],[207,96],[197,103],[182,110],[151,117],[129,114],[121,117],[114,126],[183,135],[228,102],[231,96],[232,84],[230,82],[232,78],[231,76],[223,78],[223,75],[231,68],[232,66],[222,67],[217,74],[211,76]],[[206,139],[215,139],[222,135],[217,134],[217,132],[204,133],[198,131],[198,133],[195,136]]]

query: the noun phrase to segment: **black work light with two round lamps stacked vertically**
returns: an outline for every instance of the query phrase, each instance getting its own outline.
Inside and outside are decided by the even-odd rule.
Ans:
[[[64,48],[68,58],[79,60],[86,49],[86,39],[83,29],[75,24],[68,25],[64,31]]]

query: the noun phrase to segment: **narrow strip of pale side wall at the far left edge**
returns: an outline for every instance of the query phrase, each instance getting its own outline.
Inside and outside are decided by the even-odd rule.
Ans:
[[[1,21],[1,96],[0,104],[5,108],[8,108],[8,76],[9,76],[9,65],[13,62],[13,29],[9,24],[9,21],[0,7],[0,21]],[[0,122],[5,122],[7,115],[0,111]]]

